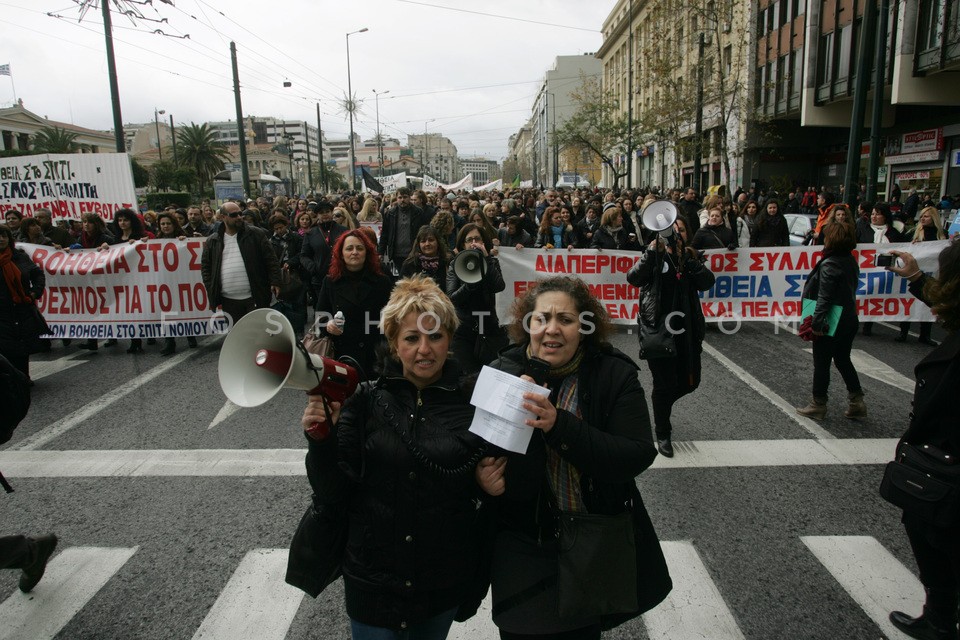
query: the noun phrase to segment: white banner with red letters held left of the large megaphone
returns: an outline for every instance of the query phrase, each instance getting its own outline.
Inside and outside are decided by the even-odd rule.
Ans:
[[[18,244],[46,275],[38,307],[55,338],[166,338],[225,333],[200,275],[203,238],[58,251]]]

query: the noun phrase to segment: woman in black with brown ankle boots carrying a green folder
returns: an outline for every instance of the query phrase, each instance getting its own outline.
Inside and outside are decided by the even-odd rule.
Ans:
[[[852,224],[829,222],[823,228],[823,256],[807,276],[803,299],[815,300],[812,312],[813,329],[813,397],[797,413],[814,420],[827,415],[827,389],[830,386],[830,363],[847,386],[848,418],[867,415],[860,377],[850,360],[853,339],[857,335],[857,285],[860,267],[853,250],[857,246]],[[809,303],[808,303],[809,304]],[[839,314],[839,318],[836,315]]]

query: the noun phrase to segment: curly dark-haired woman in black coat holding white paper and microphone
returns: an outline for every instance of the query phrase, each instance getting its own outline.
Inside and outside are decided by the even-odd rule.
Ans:
[[[600,638],[602,629],[640,615],[671,588],[634,483],[657,455],[637,366],[606,342],[606,313],[577,278],[540,281],[514,303],[509,330],[514,346],[493,366],[517,376],[536,371],[550,394],[524,394],[523,408],[531,413],[525,423],[534,429],[526,454],[483,458],[477,470],[484,491],[499,496],[493,621],[507,639]],[[572,613],[562,605],[568,583],[559,579],[561,519],[625,513],[636,541],[630,605],[616,613]],[[625,571],[633,565],[619,561]],[[603,591],[623,573],[573,577]]]

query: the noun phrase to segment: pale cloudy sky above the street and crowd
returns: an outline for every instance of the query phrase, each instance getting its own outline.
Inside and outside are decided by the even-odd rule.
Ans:
[[[380,98],[385,136],[402,142],[426,122],[461,156],[499,160],[555,56],[596,51],[615,0],[165,2],[120,3],[150,20],[114,12],[124,123],[150,121],[155,108],[178,124],[233,119],[232,40],[245,115],[315,124],[319,101],[325,137],[346,138],[345,35],[366,27],[350,36],[353,91],[363,100],[355,130],[373,136],[373,90],[389,91]],[[0,105],[13,103],[15,87],[37,114],[112,128],[101,14],[93,6],[80,20],[81,4],[98,3],[0,0],[0,64],[13,72],[12,82],[0,76]]]

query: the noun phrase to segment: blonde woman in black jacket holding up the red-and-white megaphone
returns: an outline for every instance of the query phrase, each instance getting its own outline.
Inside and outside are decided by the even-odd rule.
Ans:
[[[342,410],[313,395],[303,413],[314,506],[287,581],[316,597],[342,571],[354,640],[441,640],[487,591],[474,479],[482,442],[467,431],[474,410],[447,357],[458,323],[432,279],[400,280],[380,320],[383,375]],[[315,526],[336,519],[342,546],[310,536],[311,516]]]

